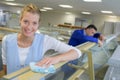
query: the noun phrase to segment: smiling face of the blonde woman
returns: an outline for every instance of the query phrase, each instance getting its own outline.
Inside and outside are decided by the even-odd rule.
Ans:
[[[33,37],[39,26],[40,16],[36,13],[24,12],[20,19],[21,32],[26,37]]]

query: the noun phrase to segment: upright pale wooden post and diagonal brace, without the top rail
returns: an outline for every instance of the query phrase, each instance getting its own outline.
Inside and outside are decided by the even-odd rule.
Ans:
[[[88,55],[88,62],[86,62],[82,66],[83,68],[78,67],[78,65],[74,65],[74,67],[78,67],[78,69],[70,78],[68,78],[68,80],[79,80],[80,75],[86,70],[89,73],[89,80],[95,80],[92,53],[89,50],[81,50],[81,51]]]

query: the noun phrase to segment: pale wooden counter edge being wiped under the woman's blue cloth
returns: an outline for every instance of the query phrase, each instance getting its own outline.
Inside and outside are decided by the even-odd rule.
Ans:
[[[58,69],[62,65],[64,65],[65,63],[66,62],[60,62],[60,63],[55,65],[55,68]],[[21,69],[19,71],[13,72],[12,74],[5,75],[3,78],[4,79],[14,79],[14,78],[17,78],[19,80],[29,80],[29,79],[31,79],[33,77],[36,77],[39,80],[41,77],[45,77],[46,75],[48,75],[48,74],[32,72],[29,67],[26,67],[26,68],[23,68],[23,69]]]

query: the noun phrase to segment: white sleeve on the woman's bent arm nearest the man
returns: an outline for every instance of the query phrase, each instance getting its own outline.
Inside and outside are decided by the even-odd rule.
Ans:
[[[59,40],[56,40],[55,38],[50,37],[50,36],[45,36],[43,45],[44,45],[44,47],[43,47],[44,53],[47,50],[53,49],[53,50],[57,51],[58,53],[62,54],[62,53],[65,53],[71,49],[74,49],[79,54],[78,57],[81,56],[81,51],[78,50],[77,48],[72,47],[64,42],[59,41]]]

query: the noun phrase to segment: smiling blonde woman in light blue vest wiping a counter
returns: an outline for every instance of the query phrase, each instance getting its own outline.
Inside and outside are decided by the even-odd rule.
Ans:
[[[6,35],[2,41],[2,59],[7,74],[37,62],[38,66],[50,66],[61,61],[70,61],[81,56],[81,52],[52,37],[37,34],[40,10],[33,4],[25,6],[20,16],[20,33]],[[54,49],[61,53],[43,58],[44,53]]]

